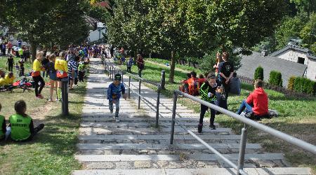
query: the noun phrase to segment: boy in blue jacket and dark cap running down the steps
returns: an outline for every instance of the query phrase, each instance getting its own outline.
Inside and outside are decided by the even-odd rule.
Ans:
[[[121,83],[121,74],[117,73],[114,76],[114,82],[107,89],[107,99],[109,99],[110,113],[113,113],[113,104],[115,104],[115,121],[119,123],[119,98],[123,94],[126,100],[125,87]]]

